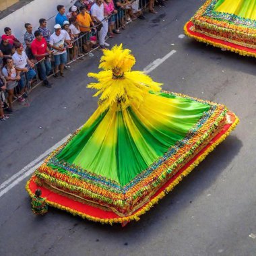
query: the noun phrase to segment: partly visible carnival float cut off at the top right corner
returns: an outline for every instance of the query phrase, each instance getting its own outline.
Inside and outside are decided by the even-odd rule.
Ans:
[[[256,57],[255,10],[255,0],[207,0],[185,24],[185,34],[241,55]]]

